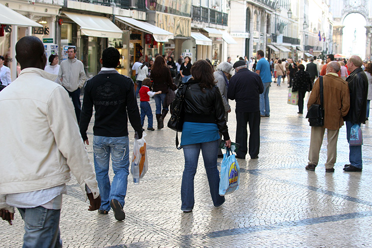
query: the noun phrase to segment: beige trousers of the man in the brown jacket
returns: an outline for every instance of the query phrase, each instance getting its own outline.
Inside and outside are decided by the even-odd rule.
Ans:
[[[308,164],[318,165],[319,151],[323,143],[324,131],[325,131],[325,128],[321,126],[311,127]],[[337,130],[327,129],[328,144],[327,144],[327,162],[325,163],[326,169],[333,168],[333,166],[336,163],[338,133],[339,133],[339,129]]]

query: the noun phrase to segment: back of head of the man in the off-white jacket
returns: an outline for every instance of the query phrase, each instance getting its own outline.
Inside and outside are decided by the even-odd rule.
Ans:
[[[35,36],[25,36],[15,44],[15,58],[25,68],[39,68],[44,70],[46,55],[43,42]]]

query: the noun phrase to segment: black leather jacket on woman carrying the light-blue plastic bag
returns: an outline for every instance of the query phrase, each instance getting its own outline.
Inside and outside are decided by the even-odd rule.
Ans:
[[[212,89],[201,91],[198,81],[192,79],[179,87],[179,96],[184,87],[187,87],[183,109],[185,122],[215,123],[222,133],[224,140],[229,140],[229,132],[225,119],[225,108],[223,106],[221,93],[217,86]]]

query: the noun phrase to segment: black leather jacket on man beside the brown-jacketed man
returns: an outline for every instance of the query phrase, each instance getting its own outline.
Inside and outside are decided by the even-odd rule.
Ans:
[[[355,69],[346,79],[350,91],[350,110],[344,117],[351,123],[366,123],[368,78],[362,68]]]

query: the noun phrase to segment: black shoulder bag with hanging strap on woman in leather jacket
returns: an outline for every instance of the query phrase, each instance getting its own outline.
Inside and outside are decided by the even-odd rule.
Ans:
[[[183,103],[185,98],[187,86],[184,85],[182,88],[182,92],[179,96],[176,95],[175,100],[173,100],[171,109],[173,110],[171,118],[168,121],[167,126],[172,130],[176,131],[176,147],[177,149],[181,149],[182,146],[178,146],[180,144],[178,140],[178,132],[182,132],[182,127],[184,125],[184,111],[183,111]]]

